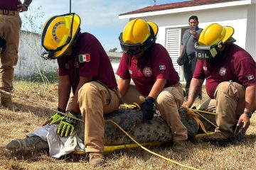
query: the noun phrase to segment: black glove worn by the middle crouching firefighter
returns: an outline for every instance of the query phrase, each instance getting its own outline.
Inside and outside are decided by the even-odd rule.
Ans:
[[[140,104],[143,111],[143,121],[151,120],[154,116],[154,98],[146,96],[145,101]]]

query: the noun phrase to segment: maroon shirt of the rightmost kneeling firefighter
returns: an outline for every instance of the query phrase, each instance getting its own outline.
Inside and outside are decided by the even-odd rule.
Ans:
[[[218,59],[198,60],[193,78],[206,79],[206,91],[210,98],[218,84],[234,81],[243,86],[255,85],[255,61],[252,56],[238,45],[230,43]]]

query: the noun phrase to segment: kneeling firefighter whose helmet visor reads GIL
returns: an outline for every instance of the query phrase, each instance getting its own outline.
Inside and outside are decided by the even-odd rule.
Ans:
[[[203,29],[196,43],[198,62],[191,81],[188,101],[190,108],[196,94],[206,79],[206,91],[210,98],[201,109],[216,112],[215,135],[204,140],[228,142],[235,135],[243,134],[250,126],[255,111],[255,61],[232,37],[234,28],[212,23]]]

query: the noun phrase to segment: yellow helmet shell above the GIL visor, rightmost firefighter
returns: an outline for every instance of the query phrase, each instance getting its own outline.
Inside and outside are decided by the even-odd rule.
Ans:
[[[234,28],[231,26],[221,26],[218,23],[211,23],[203,29],[198,44],[199,45],[218,45],[220,42],[230,42],[235,40],[232,38]]]

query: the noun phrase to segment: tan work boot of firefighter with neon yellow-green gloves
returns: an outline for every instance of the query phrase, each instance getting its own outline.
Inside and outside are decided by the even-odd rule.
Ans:
[[[89,154],[89,164],[92,167],[106,166],[107,162],[102,153],[99,152],[90,152]]]

